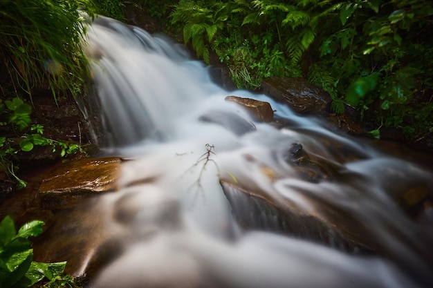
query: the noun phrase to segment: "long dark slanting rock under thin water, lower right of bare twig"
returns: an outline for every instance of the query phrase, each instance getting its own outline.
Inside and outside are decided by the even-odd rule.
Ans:
[[[364,245],[344,235],[335,224],[318,215],[303,213],[296,207],[286,206],[263,198],[255,191],[221,181],[230,202],[232,213],[244,229],[273,231],[295,238],[328,244],[342,251],[370,253]]]

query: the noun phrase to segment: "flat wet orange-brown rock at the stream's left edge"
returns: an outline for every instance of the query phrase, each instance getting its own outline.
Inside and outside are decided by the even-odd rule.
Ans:
[[[85,158],[59,164],[44,175],[39,187],[43,207],[58,207],[74,198],[116,189],[118,157]]]

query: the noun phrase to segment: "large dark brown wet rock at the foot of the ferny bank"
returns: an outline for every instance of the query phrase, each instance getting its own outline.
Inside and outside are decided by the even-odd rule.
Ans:
[[[331,96],[303,78],[271,77],[262,81],[264,93],[288,104],[297,113],[326,113]]]

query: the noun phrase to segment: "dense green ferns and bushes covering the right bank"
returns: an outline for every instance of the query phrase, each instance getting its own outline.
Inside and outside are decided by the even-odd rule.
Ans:
[[[172,13],[185,43],[230,66],[239,87],[304,76],[356,107],[376,128],[433,132],[433,3],[381,1],[180,1]]]

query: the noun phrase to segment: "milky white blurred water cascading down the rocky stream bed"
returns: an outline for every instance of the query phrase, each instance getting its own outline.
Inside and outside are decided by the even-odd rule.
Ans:
[[[104,17],[88,35],[104,149],[133,159],[119,191],[82,211],[121,246],[91,287],[433,287],[432,227],[394,200],[432,191],[432,173],[265,95],[223,90],[162,35]],[[286,125],[255,122],[227,95],[269,102]],[[292,144],[331,172],[304,180]],[[326,237],[308,237],[317,227]]]

